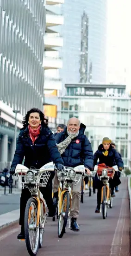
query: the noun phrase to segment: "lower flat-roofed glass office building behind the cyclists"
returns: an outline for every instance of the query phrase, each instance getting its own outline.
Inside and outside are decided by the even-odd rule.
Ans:
[[[85,134],[94,152],[103,137],[113,140],[125,165],[131,160],[131,97],[125,95],[125,86],[71,85],[61,98],[58,117],[68,120],[77,117],[86,125]]]

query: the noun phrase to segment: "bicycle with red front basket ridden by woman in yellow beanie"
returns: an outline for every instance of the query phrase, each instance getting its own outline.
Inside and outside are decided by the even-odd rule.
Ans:
[[[107,209],[112,208],[113,198],[111,196],[111,188],[109,186],[109,180],[113,178],[115,171],[118,171],[117,166],[112,168],[100,168],[97,166],[97,175],[100,180],[103,182],[101,189],[101,204],[102,204],[102,216],[103,219],[107,217]]]

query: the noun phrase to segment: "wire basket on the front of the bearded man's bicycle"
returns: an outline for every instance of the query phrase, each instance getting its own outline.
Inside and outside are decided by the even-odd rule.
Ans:
[[[75,172],[73,168],[65,168],[64,171],[57,170],[57,176],[59,181],[69,180],[78,183],[83,173]]]

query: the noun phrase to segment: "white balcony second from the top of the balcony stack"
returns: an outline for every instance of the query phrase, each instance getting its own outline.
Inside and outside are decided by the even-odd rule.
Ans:
[[[46,27],[53,27],[53,26],[63,25],[63,24],[64,24],[64,18],[62,15],[46,13]]]

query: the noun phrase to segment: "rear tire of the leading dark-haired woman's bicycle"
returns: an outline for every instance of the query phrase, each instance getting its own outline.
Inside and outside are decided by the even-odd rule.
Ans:
[[[45,213],[44,213],[43,203],[40,202],[40,204],[41,204],[41,211],[40,211],[40,223],[39,223],[39,248],[42,248],[43,236],[44,236],[44,227],[42,227],[42,225],[44,222]]]

